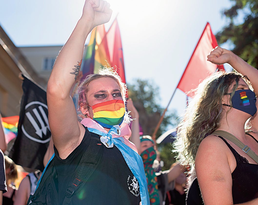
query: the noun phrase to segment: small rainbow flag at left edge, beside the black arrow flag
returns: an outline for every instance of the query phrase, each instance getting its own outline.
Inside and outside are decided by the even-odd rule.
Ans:
[[[7,144],[12,139],[17,137],[18,122],[19,122],[19,115],[2,118],[2,124],[3,124],[3,127],[4,127],[4,133],[5,133],[5,142]]]

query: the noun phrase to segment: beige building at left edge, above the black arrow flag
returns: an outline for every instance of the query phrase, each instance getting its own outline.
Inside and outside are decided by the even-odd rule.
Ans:
[[[24,73],[42,87],[47,81],[34,71],[21,51],[13,44],[0,26],[0,112],[3,117],[19,115]]]

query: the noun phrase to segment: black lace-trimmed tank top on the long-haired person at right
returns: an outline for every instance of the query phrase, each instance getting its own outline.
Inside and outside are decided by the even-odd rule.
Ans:
[[[244,203],[258,198],[258,165],[249,164],[248,160],[221,136],[221,138],[229,147],[236,158],[237,166],[232,175],[232,197],[234,204]]]

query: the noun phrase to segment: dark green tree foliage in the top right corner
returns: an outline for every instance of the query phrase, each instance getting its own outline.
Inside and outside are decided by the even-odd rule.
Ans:
[[[231,42],[232,51],[252,66],[258,66],[258,1],[232,0],[235,4],[222,12],[230,23],[216,34],[219,44]],[[241,15],[240,15],[241,14]],[[240,16],[243,23],[237,24]]]

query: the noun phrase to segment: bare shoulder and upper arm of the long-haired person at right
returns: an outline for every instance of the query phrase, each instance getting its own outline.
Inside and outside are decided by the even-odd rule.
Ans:
[[[231,152],[232,153],[232,152]],[[233,155],[233,154],[232,154]],[[232,204],[230,149],[217,136],[207,136],[196,154],[195,170],[205,204]],[[224,203],[225,202],[225,203]]]

